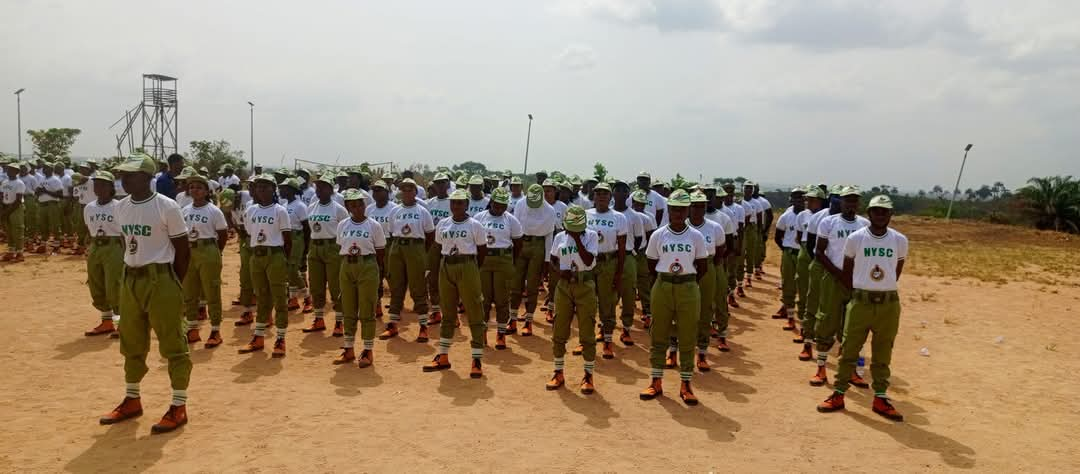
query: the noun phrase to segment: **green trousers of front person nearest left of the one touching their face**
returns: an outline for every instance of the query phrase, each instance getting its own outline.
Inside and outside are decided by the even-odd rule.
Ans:
[[[461,256],[457,256],[461,257]],[[465,317],[469,319],[469,331],[472,335],[470,346],[474,350],[484,350],[484,311],[483,295],[480,285],[480,267],[475,259],[447,262],[443,260],[438,270],[438,297],[446,308],[443,325],[438,328],[442,339],[454,338],[454,327],[458,322],[458,301],[465,307]]]

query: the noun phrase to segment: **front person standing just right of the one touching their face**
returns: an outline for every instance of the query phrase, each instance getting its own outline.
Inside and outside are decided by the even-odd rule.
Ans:
[[[664,393],[664,351],[672,328],[675,328],[678,334],[679,378],[683,380],[679,398],[687,405],[697,405],[698,397],[690,388],[690,378],[693,377],[693,347],[701,314],[698,281],[705,275],[708,250],[704,235],[686,224],[690,195],[676,189],[666,204],[671,221],[652,233],[646,249],[649,268],[657,273],[652,285],[652,350],[649,357],[652,381],[639,397],[652,399]]]

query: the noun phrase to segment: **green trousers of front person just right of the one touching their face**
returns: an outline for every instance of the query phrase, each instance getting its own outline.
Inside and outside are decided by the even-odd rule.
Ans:
[[[670,283],[657,277],[652,284],[652,351],[649,363],[663,370],[672,327],[678,338],[679,371],[693,373],[693,347],[698,341],[701,289],[697,282]]]

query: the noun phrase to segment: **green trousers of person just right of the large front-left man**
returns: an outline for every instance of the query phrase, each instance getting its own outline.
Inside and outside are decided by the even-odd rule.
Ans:
[[[192,325],[199,317],[200,300],[206,301],[210,324],[220,326],[221,250],[214,239],[195,241],[195,246],[191,247],[188,273],[184,275],[184,313]]]

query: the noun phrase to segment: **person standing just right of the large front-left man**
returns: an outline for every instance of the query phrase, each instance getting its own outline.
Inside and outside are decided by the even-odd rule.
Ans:
[[[210,202],[210,181],[205,176],[187,178],[187,192],[191,197],[180,214],[188,227],[191,259],[184,277],[184,308],[188,319],[188,343],[199,337],[199,301],[206,301],[210,312],[210,337],[204,347],[221,344],[221,253],[229,240],[229,226],[225,214]]]

